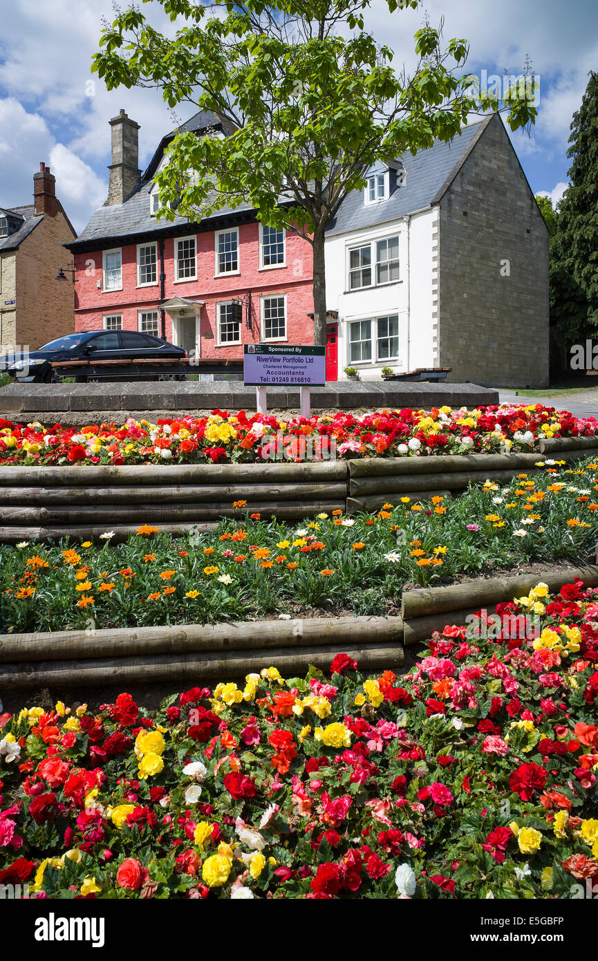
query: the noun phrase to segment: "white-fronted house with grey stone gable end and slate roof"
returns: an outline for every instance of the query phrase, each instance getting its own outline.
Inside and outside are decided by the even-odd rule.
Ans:
[[[326,237],[338,374],[548,383],[548,231],[498,114],[367,171]],[[330,345],[329,345],[330,350]]]

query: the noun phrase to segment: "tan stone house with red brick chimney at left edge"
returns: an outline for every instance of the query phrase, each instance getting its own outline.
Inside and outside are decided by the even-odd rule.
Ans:
[[[57,281],[62,244],[75,237],[45,163],[34,174],[34,203],[0,208],[0,353],[34,350],[74,330],[71,283]]]

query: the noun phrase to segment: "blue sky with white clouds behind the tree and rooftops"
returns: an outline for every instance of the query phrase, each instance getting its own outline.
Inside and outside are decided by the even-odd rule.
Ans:
[[[426,0],[430,22],[444,16],[445,39],[466,37],[467,69],[478,75],[521,73],[526,56],[540,78],[539,116],[532,136],[511,136],[535,192],[559,199],[566,185],[567,138],[580,106],[587,73],[598,69],[596,0]],[[154,25],[172,31],[158,3],[144,5]],[[394,66],[414,64],[414,32],[424,10],[388,13],[373,0],[367,28],[395,54]],[[102,17],[112,0],[3,0],[0,33],[0,205],[31,202],[33,174],[44,160],[57,176],[57,193],[81,230],[107,193],[108,121],[120,108],[141,125],[139,165],[158,141],[193,108],[177,116],[155,90],[121,88],[109,93],[89,64]]]

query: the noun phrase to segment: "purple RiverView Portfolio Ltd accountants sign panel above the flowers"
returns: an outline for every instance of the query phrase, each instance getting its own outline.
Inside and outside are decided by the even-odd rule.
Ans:
[[[326,383],[326,348],[289,344],[245,344],[243,382],[313,387]]]

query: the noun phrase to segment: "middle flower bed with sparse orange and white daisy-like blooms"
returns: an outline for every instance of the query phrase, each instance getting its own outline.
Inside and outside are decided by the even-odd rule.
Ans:
[[[398,613],[403,585],[531,561],[578,563],[596,543],[598,464],[553,460],[534,479],[488,481],[458,500],[397,498],[376,514],[342,511],[299,526],[237,520],[174,539],[156,526],[112,545],[0,547],[0,630],[189,624],[320,609]],[[596,500],[594,500],[596,498]]]

